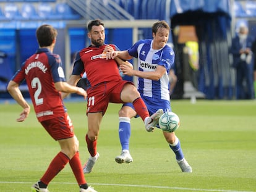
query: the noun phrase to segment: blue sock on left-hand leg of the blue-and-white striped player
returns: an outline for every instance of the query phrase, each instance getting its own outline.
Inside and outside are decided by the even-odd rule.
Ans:
[[[127,149],[129,151],[130,140],[130,118],[119,117],[119,140],[122,146],[122,150]]]

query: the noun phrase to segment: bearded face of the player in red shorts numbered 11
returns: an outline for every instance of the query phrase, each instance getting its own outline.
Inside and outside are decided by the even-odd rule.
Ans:
[[[105,41],[105,28],[100,25],[94,25],[90,33],[88,33],[88,38],[90,38],[92,45],[101,46]]]

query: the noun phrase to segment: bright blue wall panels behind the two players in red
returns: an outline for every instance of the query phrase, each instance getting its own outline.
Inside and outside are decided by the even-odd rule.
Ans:
[[[58,27],[58,25],[56,26]],[[36,28],[19,30],[17,28],[0,28],[0,51],[7,54],[7,57],[0,58],[0,98],[9,97],[9,94],[6,94],[7,82],[19,69],[20,65],[38,49],[35,30]],[[132,46],[132,29],[106,29],[105,32],[105,42],[107,44],[117,44],[120,50]],[[68,33],[70,38],[70,60],[73,61],[75,54],[90,42],[85,28],[70,28]],[[126,36],[126,38],[123,38],[123,36]],[[64,42],[65,30],[58,28],[58,38],[54,52],[61,56],[63,65],[66,62]],[[124,78],[132,80],[131,77]],[[22,90],[26,90],[25,83],[22,85],[24,85]]]

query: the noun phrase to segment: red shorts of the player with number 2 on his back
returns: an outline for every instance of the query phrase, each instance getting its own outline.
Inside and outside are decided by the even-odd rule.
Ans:
[[[63,140],[74,136],[74,126],[67,113],[61,117],[44,120],[41,125],[54,140]]]

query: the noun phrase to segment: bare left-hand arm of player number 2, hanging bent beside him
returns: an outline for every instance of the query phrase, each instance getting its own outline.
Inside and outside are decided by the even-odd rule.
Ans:
[[[23,122],[23,120],[25,120],[30,113],[30,106],[23,98],[18,83],[12,80],[9,81],[7,90],[11,94],[12,98],[14,98],[15,101],[23,108],[23,111],[20,113],[20,117],[17,119],[17,122]]]

